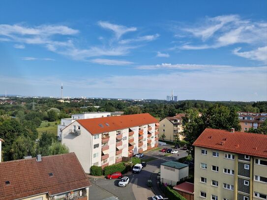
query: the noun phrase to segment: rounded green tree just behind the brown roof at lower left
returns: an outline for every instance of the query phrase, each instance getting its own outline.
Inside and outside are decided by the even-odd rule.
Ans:
[[[13,160],[23,159],[24,156],[35,156],[35,143],[29,137],[19,136],[11,145]]]

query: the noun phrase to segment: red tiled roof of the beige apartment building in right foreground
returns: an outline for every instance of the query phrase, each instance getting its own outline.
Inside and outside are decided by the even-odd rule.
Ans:
[[[206,128],[195,146],[267,158],[267,135]]]

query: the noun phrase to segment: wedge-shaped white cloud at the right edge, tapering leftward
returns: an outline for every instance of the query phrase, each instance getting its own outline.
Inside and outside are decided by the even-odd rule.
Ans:
[[[240,52],[241,48],[236,48],[233,51],[233,54],[239,57],[245,57],[252,60],[260,60],[267,63],[267,46],[259,47],[256,50],[247,51],[247,52]]]

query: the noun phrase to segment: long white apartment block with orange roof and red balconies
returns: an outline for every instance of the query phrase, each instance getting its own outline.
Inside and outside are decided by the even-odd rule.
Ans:
[[[62,130],[62,143],[83,169],[102,168],[158,145],[158,120],[150,114],[77,119]]]

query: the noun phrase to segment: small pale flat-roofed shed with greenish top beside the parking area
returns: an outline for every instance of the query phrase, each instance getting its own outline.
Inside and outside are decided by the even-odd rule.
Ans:
[[[160,165],[160,182],[175,186],[188,178],[189,165],[168,161]]]

